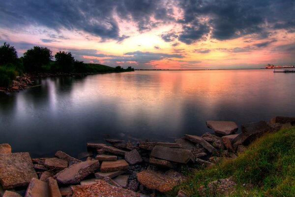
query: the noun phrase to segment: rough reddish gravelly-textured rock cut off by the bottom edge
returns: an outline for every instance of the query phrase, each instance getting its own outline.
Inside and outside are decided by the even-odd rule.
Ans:
[[[104,180],[85,186],[72,186],[73,197],[140,197],[133,191],[110,185]]]

